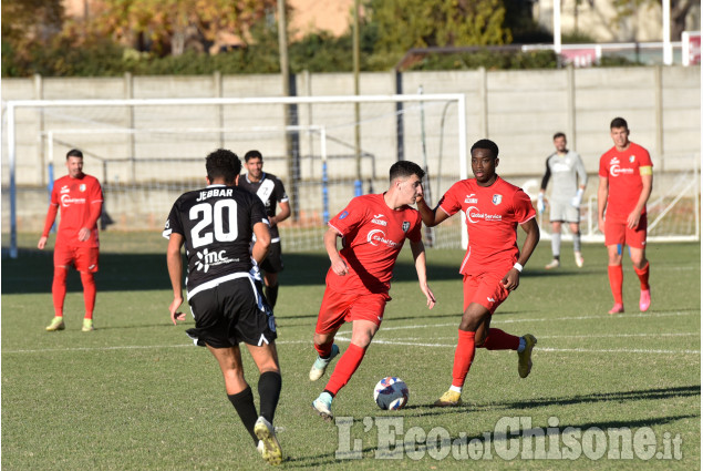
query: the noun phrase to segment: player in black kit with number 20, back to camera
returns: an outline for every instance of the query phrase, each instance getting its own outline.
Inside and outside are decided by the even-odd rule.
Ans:
[[[272,426],[281,390],[271,308],[261,293],[258,263],[269,244],[268,217],[261,201],[236,187],[241,162],[230,151],[217,150],[206,158],[208,186],[184,193],[174,203],[164,237],[168,238],[168,276],[174,298],[170,319],[185,319],[183,258],[188,259],[186,288],[195,328],[186,330],[198,346],[215,356],[225,377],[229,401],[269,464],[281,462],[281,448]],[[256,234],[251,255],[249,245]],[[259,376],[260,416],[244,377],[239,342],[247,345]]]

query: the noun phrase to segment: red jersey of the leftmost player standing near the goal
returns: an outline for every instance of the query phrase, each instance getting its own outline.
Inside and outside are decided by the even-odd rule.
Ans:
[[[54,182],[51,191],[51,205],[61,208],[61,222],[56,234],[56,245],[69,247],[97,247],[97,218],[103,207],[103,190],[97,178],[85,175],[81,178],[62,176]],[[51,215],[50,208],[50,215]],[[55,215],[55,209],[54,209]],[[53,224],[46,221],[44,236]],[[79,231],[82,227],[91,228],[91,237],[87,240],[79,240]]]

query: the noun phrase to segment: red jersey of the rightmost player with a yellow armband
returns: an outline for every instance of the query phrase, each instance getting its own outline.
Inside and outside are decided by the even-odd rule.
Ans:
[[[598,175],[608,178],[607,214],[627,217],[634,209],[643,187],[640,167],[645,166],[652,166],[649,152],[633,142],[623,152],[613,146],[601,155]]]

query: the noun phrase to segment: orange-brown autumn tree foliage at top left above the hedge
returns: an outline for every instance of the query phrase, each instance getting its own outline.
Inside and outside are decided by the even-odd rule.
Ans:
[[[220,32],[246,42],[276,0],[103,0],[92,27],[139,51],[179,55],[188,44],[207,51]]]

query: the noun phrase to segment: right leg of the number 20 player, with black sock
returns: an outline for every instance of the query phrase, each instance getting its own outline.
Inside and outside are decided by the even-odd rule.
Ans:
[[[281,373],[278,365],[276,344],[255,346],[247,344],[254,362],[259,368],[259,410],[260,416],[254,424],[254,432],[260,440],[259,451],[269,464],[279,464],[282,460],[281,447],[273,429],[273,414],[281,393]]]

